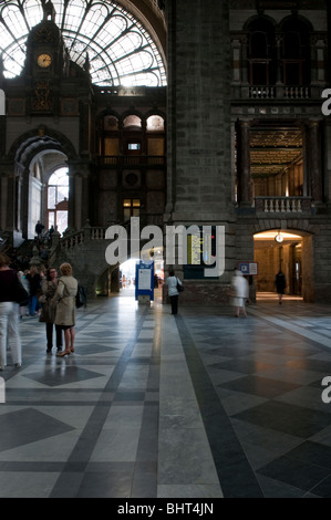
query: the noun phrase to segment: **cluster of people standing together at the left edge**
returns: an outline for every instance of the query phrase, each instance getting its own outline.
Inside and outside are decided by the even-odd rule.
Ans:
[[[41,305],[40,321],[45,323],[46,352],[53,347],[55,327],[56,355],[65,356],[74,352],[75,341],[75,295],[77,280],[73,277],[70,263],[60,266],[60,277],[54,268],[49,268],[41,277],[37,268],[25,274],[29,281],[29,311],[33,312],[37,302]],[[32,272],[31,272],[32,271]],[[19,306],[17,284],[21,283],[15,269],[10,268],[10,259],[0,253],[0,370],[7,365],[7,351],[11,352],[15,367],[22,364],[22,346],[19,332]],[[31,292],[33,299],[31,299]],[[63,347],[64,336],[64,349]]]

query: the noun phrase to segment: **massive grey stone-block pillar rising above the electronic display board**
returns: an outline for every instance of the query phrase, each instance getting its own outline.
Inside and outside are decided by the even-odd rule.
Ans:
[[[166,2],[167,207],[173,221],[225,219],[231,206],[228,0]]]

